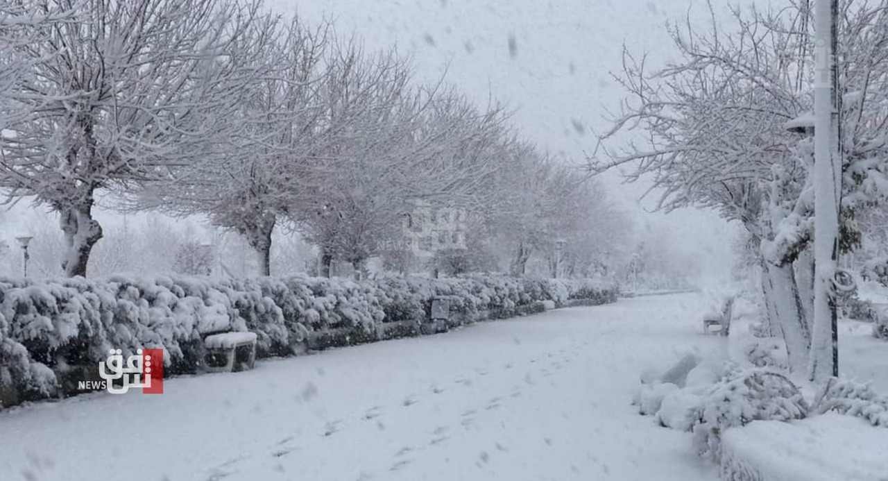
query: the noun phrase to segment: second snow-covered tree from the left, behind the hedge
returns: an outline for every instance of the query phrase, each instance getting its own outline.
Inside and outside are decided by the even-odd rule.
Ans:
[[[271,274],[272,233],[279,217],[300,195],[306,158],[320,150],[315,135],[321,118],[321,56],[327,27],[310,30],[295,18],[250,25],[242,49],[250,49],[256,76],[234,114],[239,130],[234,148],[171,169],[146,186],[139,207],[187,216],[204,214],[221,228],[244,236],[258,253],[260,274]]]

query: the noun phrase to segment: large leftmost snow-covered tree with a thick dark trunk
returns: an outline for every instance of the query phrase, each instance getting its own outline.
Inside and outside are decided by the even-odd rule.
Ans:
[[[102,237],[101,189],[156,180],[170,167],[227,153],[232,119],[256,72],[245,36],[258,2],[57,0],[74,20],[37,28],[4,53],[27,65],[0,90],[24,112],[0,132],[0,187],[59,212],[67,276],[86,274]],[[4,107],[4,111],[6,107]],[[0,114],[2,115],[2,114]]]

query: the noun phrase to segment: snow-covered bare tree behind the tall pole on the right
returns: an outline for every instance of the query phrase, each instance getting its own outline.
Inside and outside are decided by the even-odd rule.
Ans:
[[[843,9],[843,219],[884,195],[885,3]],[[714,17],[713,17],[714,18]],[[768,317],[790,364],[807,366],[813,311],[813,146],[789,132],[810,122],[812,25],[807,3],[777,12],[733,11],[733,26],[672,28],[680,59],[655,72],[624,54],[617,79],[630,93],[614,128],[643,143],[600,148],[591,168],[633,165],[650,176],[663,210],[717,209],[758,245]],[[601,144],[606,146],[607,143]],[[848,227],[842,247],[852,247]]]

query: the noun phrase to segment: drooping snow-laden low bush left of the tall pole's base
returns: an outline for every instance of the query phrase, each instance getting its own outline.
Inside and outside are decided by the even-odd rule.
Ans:
[[[782,374],[731,367],[728,371],[702,398],[700,418],[693,428],[697,453],[718,461],[725,429],[756,420],[789,421],[807,416],[805,398]]]

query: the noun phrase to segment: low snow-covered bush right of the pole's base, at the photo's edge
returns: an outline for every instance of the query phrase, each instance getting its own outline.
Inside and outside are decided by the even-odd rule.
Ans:
[[[888,428],[888,397],[879,396],[869,384],[831,378],[815,397],[813,411],[857,416]]]

